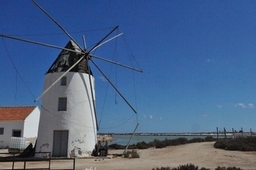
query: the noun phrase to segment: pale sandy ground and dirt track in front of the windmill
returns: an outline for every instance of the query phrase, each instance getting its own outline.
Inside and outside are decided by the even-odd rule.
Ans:
[[[161,167],[178,167],[192,163],[199,168],[215,169],[217,166],[236,166],[241,169],[256,169],[256,152],[226,151],[214,148],[214,142],[184,144],[162,149],[138,150],[140,158],[77,158],[75,169],[97,170],[151,170]],[[124,150],[110,150],[109,154],[121,153]],[[39,166],[34,164],[32,166]],[[5,166],[7,167],[7,166]],[[51,163],[52,169],[72,167],[72,162]],[[4,164],[0,164],[4,169]]]

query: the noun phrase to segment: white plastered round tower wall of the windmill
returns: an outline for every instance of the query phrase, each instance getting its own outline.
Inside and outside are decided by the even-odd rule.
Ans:
[[[63,72],[45,75],[47,89]],[[90,155],[97,142],[89,75],[69,72],[67,85],[61,81],[42,96],[36,152],[53,152],[53,131],[69,131],[67,157]],[[94,87],[94,77],[91,76]],[[94,90],[93,90],[94,93]],[[95,96],[95,95],[94,95]],[[59,97],[67,97],[67,111],[58,111]],[[39,155],[38,155],[39,156]]]

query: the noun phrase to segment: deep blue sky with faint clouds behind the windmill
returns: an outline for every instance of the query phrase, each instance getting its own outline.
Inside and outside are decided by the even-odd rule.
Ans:
[[[99,132],[132,132],[137,123],[138,132],[206,132],[217,127],[256,131],[256,1],[37,3],[80,45],[85,35],[89,49],[119,26],[124,36],[94,55],[143,70],[131,72],[94,60],[138,111],[134,114],[92,66]],[[0,34],[59,47],[69,41],[31,1],[2,0],[0,8]],[[0,105],[39,106],[34,98],[42,93],[44,74],[59,53],[1,39]]]

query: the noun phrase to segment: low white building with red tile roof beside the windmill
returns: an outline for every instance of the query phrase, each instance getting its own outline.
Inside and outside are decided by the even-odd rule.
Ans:
[[[10,138],[37,137],[40,111],[38,107],[0,107],[0,149]]]

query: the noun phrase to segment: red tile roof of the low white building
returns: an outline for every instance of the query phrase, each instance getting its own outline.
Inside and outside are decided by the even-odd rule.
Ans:
[[[24,121],[36,107],[0,107],[0,122]]]

